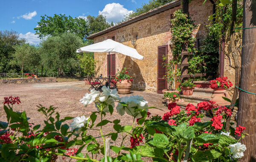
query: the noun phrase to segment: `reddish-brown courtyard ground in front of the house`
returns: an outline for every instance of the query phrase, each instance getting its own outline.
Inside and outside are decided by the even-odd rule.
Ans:
[[[19,96],[21,103],[14,106],[14,110],[18,112],[26,111],[27,117],[30,118],[29,122],[35,125],[44,125],[44,116],[41,112],[38,112],[38,105],[49,107],[51,105],[58,107],[56,112],[59,112],[61,118],[66,116],[77,117],[77,116],[90,116],[91,112],[96,111],[94,104],[90,104],[84,107],[79,99],[83,98],[84,94],[88,92],[90,86],[84,84],[83,81],[75,82],[58,82],[58,83],[47,83],[47,84],[1,84],[0,85],[0,104],[3,106],[4,97],[9,96]],[[167,106],[164,103],[163,95],[154,92],[141,92],[141,91],[131,91],[133,95],[142,95],[146,101],[148,101],[148,106],[154,106],[158,109],[150,109],[152,115],[163,115],[168,111]],[[131,94],[129,94],[131,95]],[[120,95],[120,97],[125,95]],[[1,106],[1,107],[2,107]],[[120,124],[122,126],[131,125],[132,118],[129,115],[120,116],[114,109],[113,115],[107,114],[105,119],[115,120],[120,119]],[[6,115],[3,107],[0,111],[0,121],[6,121]],[[99,123],[100,119],[96,120]],[[71,123],[72,120],[67,121]],[[104,126],[103,134],[108,134],[113,132],[113,126],[108,124]],[[99,131],[88,131],[87,134],[93,135],[93,137],[100,136]],[[116,141],[111,141],[111,145],[120,145],[121,137],[119,134]],[[98,138],[98,142],[102,143],[102,139]],[[130,137],[127,137],[124,145],[130,146]],[[84,151],[82,151],[84,152]],[[112,151],[111,156],[116,156]],[[61,158],[59,158],[60,160]],[[66,159],[67,160],[67,159]],[[145,160],[145,159],[144,159]],[[61,160],[62,161],[62,160]]]

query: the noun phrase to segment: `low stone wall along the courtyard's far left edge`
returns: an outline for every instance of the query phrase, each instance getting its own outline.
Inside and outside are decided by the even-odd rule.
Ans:
[[[15,78],[15,79],[0,79],[0,84],[26,84],[26,83],[45,83],[56,82],[56,78]]]

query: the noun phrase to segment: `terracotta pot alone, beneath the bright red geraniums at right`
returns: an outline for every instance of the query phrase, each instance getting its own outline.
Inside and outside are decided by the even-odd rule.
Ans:
[[[224,87],[214,89],[210,101],[216,102],[219,106],[230,105],[230,102],[224,100],[222,97],[230,98],[227,90]]]

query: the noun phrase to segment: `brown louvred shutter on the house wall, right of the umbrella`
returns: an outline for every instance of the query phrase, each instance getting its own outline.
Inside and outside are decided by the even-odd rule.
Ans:
[[[167,63],[167,59],[163,60],[163,56],[167,57],[168,46],[162,45],[157,47],[157,93],[162,94],[163,89],[167,89],[167,81],[164,77],[166,75],[166,67],[164,66]]]

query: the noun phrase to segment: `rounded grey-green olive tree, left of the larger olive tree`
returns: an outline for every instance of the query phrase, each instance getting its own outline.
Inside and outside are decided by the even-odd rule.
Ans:
[[[37,48],[29,43],[17,45],[15,53],[12,55],[12,64],[20,67],[20,71],[24,70],[36,73],[40,66],[40,56]]]

